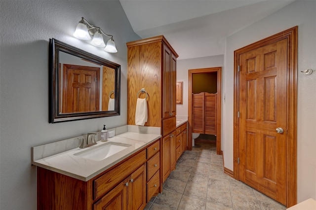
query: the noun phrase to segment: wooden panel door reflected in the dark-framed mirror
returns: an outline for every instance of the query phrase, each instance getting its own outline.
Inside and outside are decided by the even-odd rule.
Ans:
[[[62,113],[99,110],[100,68],[63,65]]]

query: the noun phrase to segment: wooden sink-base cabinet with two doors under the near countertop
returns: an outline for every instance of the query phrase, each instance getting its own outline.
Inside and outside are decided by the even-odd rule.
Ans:
[[[146,149],[82,181],[38,167],[38,210],[139,210],[146,206]]]

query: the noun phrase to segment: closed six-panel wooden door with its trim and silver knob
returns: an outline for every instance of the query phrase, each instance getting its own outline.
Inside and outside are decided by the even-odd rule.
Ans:
[[[234,177],[296,204],[297,27],[235,51]]]

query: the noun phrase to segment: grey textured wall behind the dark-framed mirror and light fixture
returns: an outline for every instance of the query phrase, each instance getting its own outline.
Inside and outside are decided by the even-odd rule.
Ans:
[[[72,34],[81,19],[114,35],[110,54]],[[31,147],[126,124],[127,48],[139,39],[118,0],[0,1],[0,209],[35,210]],[[121,65],[120,116],[48,123],[48,39],[56,38]]]

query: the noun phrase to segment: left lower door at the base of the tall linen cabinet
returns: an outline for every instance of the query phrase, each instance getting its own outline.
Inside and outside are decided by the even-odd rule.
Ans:
[[[170,174],[171,134],[162,139],[162,183]]]

